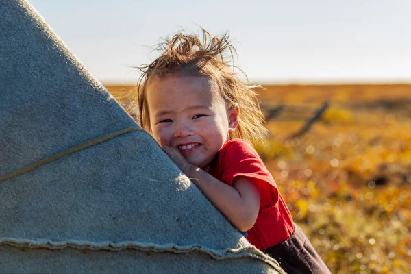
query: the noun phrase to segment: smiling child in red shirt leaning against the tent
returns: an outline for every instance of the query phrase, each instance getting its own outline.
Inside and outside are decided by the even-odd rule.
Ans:
[[[256,93],[225,60],[227,34],[176,34],[143,66],[140,125],[204,195],[258,249],[289,273],[329,273],[292,217],[249,142],[266,129]],[[232,56],[231,56],[232,57]]]

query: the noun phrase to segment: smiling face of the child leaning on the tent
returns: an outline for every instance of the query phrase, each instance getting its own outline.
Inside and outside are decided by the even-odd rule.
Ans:
[[[153,78],[146,90],[151,134],[177,147],[190,164],[207,169],[238,125],[238,107],[227,108],[209,77]]]

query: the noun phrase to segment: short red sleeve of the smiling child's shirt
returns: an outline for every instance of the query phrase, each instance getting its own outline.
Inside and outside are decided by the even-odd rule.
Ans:
[[[260,192],[260,210],[275,206],[277,185],[257,151],[245,140],[234,139],[225,144],[219,155],[221,182],[232,185],[234,178],[247,177]]]

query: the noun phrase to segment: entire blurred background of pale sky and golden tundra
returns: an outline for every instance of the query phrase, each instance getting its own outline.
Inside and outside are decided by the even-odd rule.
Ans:
[[[332,273],[411,273],[410,1],[30,3],[132,115],[161,37],[229,32],[262,84],[257,149]]]

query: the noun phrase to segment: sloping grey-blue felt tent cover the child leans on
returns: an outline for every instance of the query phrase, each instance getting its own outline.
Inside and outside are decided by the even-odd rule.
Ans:
[[[0,18],[0,176],[137,127],[29,3]],[[284,273],[143,131],[0,182],[0,220],[0,273]]]

